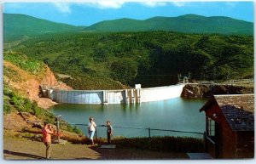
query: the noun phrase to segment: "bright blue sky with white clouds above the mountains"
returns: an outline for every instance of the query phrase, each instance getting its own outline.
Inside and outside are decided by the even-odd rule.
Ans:
[[[28,14],[70,25],[92,25],[102,20],[200,14],[228,16],[253,22],[253,2],[116,2],[94,3],[3,3],[3,13]]]

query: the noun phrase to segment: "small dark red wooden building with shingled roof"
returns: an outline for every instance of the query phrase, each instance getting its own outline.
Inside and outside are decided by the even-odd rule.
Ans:
[[[254,94],[215,95],[206,113],[206,149],[214,158],[254,157]]]

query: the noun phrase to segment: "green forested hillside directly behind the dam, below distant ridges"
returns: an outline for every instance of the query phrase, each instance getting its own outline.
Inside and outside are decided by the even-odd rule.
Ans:
[[[7,50],[7,49],[5,49]],[[14,51],[73,76],[73,88],[170,85],[177,73],[195,80],[253,77],[253,37],[166,31],[65,33],[20,42]]]

